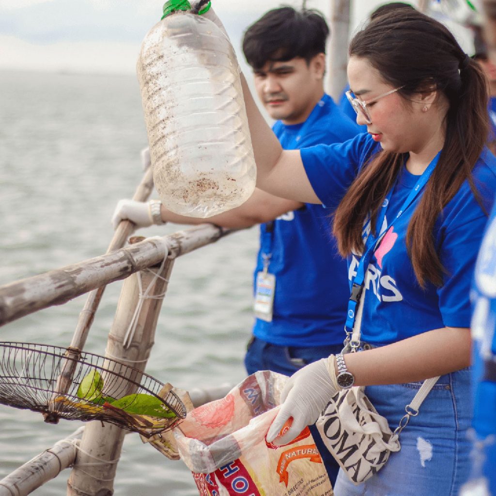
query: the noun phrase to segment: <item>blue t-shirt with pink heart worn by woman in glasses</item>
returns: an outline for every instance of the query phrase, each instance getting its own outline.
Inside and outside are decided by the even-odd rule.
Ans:
[[[306,148],[301,155],[315,193],[324,205],[334,209],[360,168],[379,150],[380,143],[368,134],[360,134],[346,143]],[[490,211],[496,189],[496,158],[489,150],[478,160],[473,176],[486,211]],[[387,225],[418,179],[403,167],[387,207]],[[440,288],[428,282],[423,290],[405,241],[420,198],[418,195],[388,230],[368,267],[370,281],[365,293],[362,337],[372,344],[387,344],[444,326],[470,326],[470,284],[487,217],[465,182],[434,227],[435,246],[447,274]],[[359,256],[351,256],[348,263],[351,284]]]

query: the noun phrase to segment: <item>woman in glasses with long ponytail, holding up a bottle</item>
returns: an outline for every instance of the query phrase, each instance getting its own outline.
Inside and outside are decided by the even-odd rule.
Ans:
[[[358,487],[340,472],[335,494],[454,496],[469,465],[470,282],[496,189],[484,75],[442,24],[397,11],[354,37],[348,80],[368,133],[295,151],[281,150],[244,88],[257,185],[335,209],[350,284],[357,253],[383,235],[365,266],[362,340],[372,349],[344,355],[354,384],[394,429],[422,381],[441,376],[401,450]],[[333,356],[296,372],[267,440],[285,444],[315,422],[343,385],[337,373]]]

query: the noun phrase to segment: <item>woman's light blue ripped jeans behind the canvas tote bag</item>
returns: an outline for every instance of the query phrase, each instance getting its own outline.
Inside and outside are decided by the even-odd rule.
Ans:
[[[398,426],[422,382],[368,386],[372,404]],[[442,375],[400,434],[400,451],[368,481],[355,486],[339,471],[336,496],[457,496],[470,472],[470,369]]]

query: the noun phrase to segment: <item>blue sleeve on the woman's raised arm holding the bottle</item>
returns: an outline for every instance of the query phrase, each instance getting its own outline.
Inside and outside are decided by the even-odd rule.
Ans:
[[[358,134],[344,143],[302,148],[305,171],[323,205],[335,210],[376,145],[369,134]]]

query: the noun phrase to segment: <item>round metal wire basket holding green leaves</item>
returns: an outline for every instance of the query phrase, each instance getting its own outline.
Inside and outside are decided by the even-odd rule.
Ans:
[[[168,386],[92,353],[0,342],[0,403],[41,412],[49,423],[100,420],[150,437],[186,417]]]

